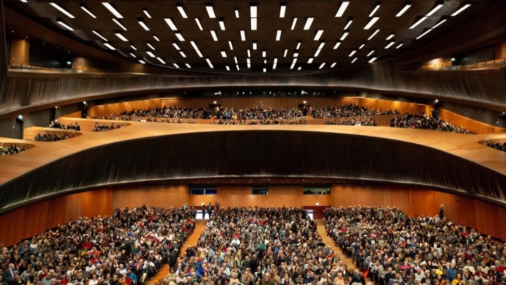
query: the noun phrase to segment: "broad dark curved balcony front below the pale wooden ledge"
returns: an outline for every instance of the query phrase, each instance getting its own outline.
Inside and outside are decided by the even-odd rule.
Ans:
[[[434,148],[362,135],[225,131],[114,142],[68,155],[0,185],[0,213],[89,187],[243,175],[422,185],[506,206],[506,176]]]

